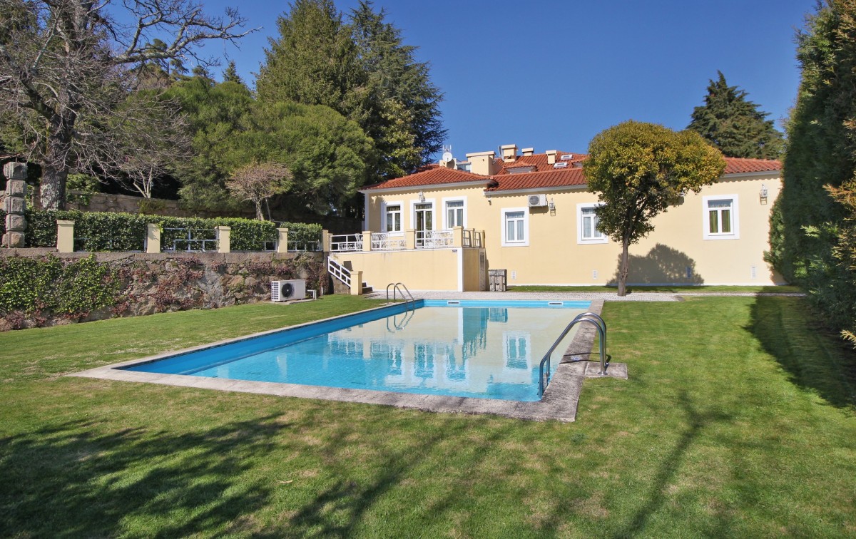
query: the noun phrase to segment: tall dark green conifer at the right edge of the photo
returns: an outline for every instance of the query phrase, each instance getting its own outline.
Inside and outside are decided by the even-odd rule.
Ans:
[[[801,66],[788,121],[782,226],[771,230],[770,258],[837,328],[856,325],[856,272],[842,262],[847,207],[830,190],[856,177],[856,1],[819,5],[797,34]],[[838,193],[841,193],[839,190]],[[849,213],[852,220],[853,212]],[[852,226],[852,222],[851,226]]]

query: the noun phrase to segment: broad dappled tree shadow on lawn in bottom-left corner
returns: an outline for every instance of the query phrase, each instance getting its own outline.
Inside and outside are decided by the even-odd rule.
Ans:
[[[104,435],[74,421],[0,438],[0,536],[217,530],[266,503],[268,488],[239,477],[288,428],[269,416],[193,433]],[[128,530],[129,516],[151,527]]]

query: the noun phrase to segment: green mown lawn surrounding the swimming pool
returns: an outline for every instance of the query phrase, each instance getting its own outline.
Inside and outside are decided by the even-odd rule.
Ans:
[[[373,305],[0,334],[0,536],[853,536],[856,359],[799,298],[607,303],[575,424],[62,373]]]

